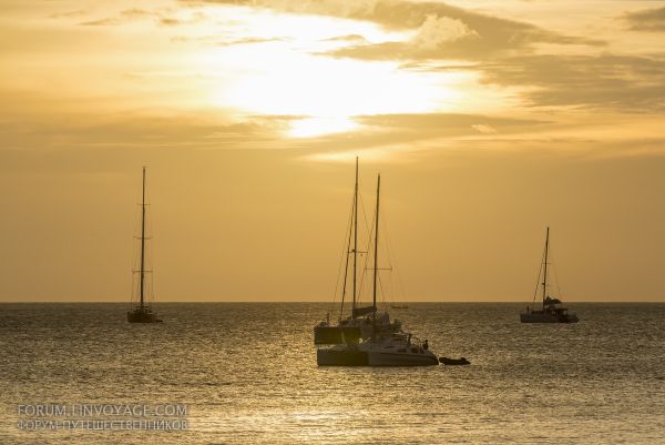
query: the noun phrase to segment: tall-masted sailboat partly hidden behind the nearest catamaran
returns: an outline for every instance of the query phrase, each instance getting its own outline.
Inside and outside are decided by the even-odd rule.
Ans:
[[[398,333],[401,331],[401,322],[399,320],[391,322],[388,312],[377,312],[376,302],[371,306],[358,306],[358,254],[362,253],[358,251],[358,158],[356,158],[356,186],[354,189],[354,208],[351,213],[354,223],[349,229],[349,236],[345,247],[347,255],[339,320],[337,321],[337,324],[334,324],[330,322],[328,314],[325,321],[321,321],[314,326],[314,343],[317,345],[340,344],[346,341],[366,340],[369,338],[375,331],[380,333]],[[351,314],[344,317],[347,279],[349,275],[349,260],[351,257]]]

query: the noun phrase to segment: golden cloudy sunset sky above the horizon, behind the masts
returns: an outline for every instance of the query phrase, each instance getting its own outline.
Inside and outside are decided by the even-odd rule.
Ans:
[[[360,158],[409,301],[665,301],[665,6],[0,0],[0,301],[331,301]],[[392,263],[391,263],[392,264]]]

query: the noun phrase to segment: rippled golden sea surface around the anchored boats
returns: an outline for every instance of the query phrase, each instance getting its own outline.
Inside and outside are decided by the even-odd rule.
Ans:
[[[328,304],[0,305],[0,444],[665,444],[665,304],[391,310],[471,366],[324,368]],[[188,429],[19,429],[18,405],[186,404]]]

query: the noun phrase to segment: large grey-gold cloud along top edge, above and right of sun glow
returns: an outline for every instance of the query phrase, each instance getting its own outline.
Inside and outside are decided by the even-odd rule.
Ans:
[[[349,2],[342,0],[181,0],[183,4],[241,4],[291,13],[330,16],[377,23],[390,30],[413,31],[412,41],[359,44],[329,55],[368,60],[468,59],[529,49],[536,43],[603,45],[602,41],[563,36],[514,20],[468,11],[446,3],[407,0]]]

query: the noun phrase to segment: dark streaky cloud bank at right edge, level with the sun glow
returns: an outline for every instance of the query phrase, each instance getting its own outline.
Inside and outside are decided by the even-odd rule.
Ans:
[[[528,89],[523,94],[531,105],[665,111],[663,57],[522,55],[475,69],[484,83]]]

